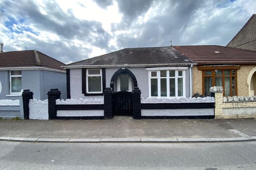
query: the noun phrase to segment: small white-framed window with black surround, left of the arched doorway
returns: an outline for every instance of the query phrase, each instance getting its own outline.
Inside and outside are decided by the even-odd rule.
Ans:
[[[102,93],[102,69],[86,70],[87,93]]]

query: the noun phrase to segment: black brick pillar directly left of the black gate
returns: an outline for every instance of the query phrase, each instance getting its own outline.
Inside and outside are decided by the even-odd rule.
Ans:
[[[112,119],[112,95],[113,90],[111,87],[107,87],[104,90],[104,118]]]

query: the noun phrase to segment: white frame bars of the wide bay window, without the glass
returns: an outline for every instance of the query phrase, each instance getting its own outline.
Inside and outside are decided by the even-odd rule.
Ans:
[[[173,70],[173,69],[170,69],[170,70]],[[162,98],[179,98],[179,97],[186,97],[186,70],[175,70],[175,97],[170,97],[170,85],[169,85],[169,79],[170,79],[170,76],[169,76],[169,71],[170,70],[165,70],[167,73],[166,73],[166,77],[162,77],[162,78],[166,78],[166,81],[167,81],[167,96],[161,96],[161,77],[160,77],[160,71],[163,71],[162,69],[161,70],[150,70],[148,71],[148,96],[149,97],[162,97]],[[178,71],[182,71],[182,76],[178,76],[179,72]],[[157,76],[156,77],[151,77],[151,72],[156,72]],[[151,96],[151,78],[157,78],[158,81],[157,81],[157,84],[158,84],[158,96]],[[178,78],[183,78],[183,96],[178,96]]]

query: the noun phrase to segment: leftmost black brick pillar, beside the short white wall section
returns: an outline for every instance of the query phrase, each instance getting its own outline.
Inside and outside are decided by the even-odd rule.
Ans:
[[[24,89],[22,92],[24,119],[29,119],[29,100],[33,99],[33,94],[29,89]]]

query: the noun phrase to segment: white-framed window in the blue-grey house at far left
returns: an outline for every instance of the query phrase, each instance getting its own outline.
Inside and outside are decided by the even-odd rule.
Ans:
[[[22,89],[21,70],[10,71],[10,93],[21,93]]]

